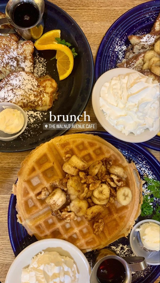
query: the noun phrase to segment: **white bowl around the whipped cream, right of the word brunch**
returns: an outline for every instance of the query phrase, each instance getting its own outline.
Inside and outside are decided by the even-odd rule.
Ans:
[[[128,134],[128,136],[126,136],[125,134],[120,132],[120,130],[117,130],[114,126],[112,126],[106,120],[103,110],[100,109],[100,102],[99,102],[100,90],[101,90],[101,87],[104,85],[104,83],[109,82],[113,77],[117,77],[123,74],[126,75],[128,73],[139,73],[139,72],[132,70],[132,69],[128,69],[128,68],[115,68],[115,69],[105,72],[102,76],[100,76],[97,82],[95,83],[93,91],[92,91],[92,106],[93,106],[95,115],[97,117],[97,120],[102,125],[102,127],[107,132],[109,132],[109,134],[111,134],[115,138],[118,138],[119,140],[122,140],[122,141],[128,141],[128,142],[134,142],[134,143],[144,142],[156,136],[156,134],[159,132],[159,129],[156,131],[150,131],[146,129],[144,130],[142,134],[139,134],[137,136],[135,136],[133,133],[130,133]]]

